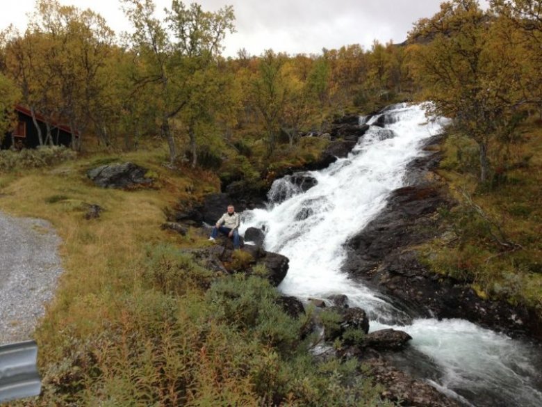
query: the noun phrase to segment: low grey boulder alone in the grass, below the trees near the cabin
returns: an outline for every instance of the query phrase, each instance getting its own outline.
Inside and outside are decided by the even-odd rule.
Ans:
[[[146,177],[148,170],[134,163],[118,163],[88,170],[87,176],[102,188],[134,188],[150,186],[154,179]]]

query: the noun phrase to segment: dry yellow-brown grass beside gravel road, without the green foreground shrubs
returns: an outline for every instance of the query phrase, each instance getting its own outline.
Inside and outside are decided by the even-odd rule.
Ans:
[[[53,170],[0,174],[1,210],[15,216],[44,218],[62,239],[60,255],[65,273],[37,334],[44,350],[42,360],[56,349],[50,342],[58,338],[54,334],[57,330],[76,327],[76,335],[84,337],[98,330],[104,319],[117,317],[115,296],[141,284],[145,246],[167,241],[179,246],[193,244],[190,238],[160,230],[165,220],[163,209],[180,199],[213,190],[217,181],[209,174],[198,177],[194,170],[188,175],[169,170],[162,166],[162,157],[161,151],[115,157],[102,154]],[[86,170],[114,158],[149,168],[158,177],[157,189],[121,191],[92,184]],[[97,204],[104,212],[98,219],[86,220],[84,204]]]

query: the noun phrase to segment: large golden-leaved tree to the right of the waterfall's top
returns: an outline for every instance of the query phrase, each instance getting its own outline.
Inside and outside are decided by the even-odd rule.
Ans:
[[[522,68],[513,42],[502,42],[502,26],[491,10],[475,0],[441,4],[431,18],[420,19],[409,34],[416,45],[413,65],[423,82],[423,99],[432,113],[454,119],[454,125],[479,148],[479,179],[488,180],[489,150],[509,140],[519,108],[528,102]]]

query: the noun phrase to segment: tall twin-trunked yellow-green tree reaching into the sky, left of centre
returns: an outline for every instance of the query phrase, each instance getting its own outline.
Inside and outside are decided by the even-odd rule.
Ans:
[[[122,3],[134,30],[129,36],[129,45],[140,67],[134,86],[136,89],[151,87],[160,95],[155,101],[156,111],[161,135],[169,146],[170,162],[178,155],[172,131],[172,120],[178,116],[185,120],[195,160],[196,123],[209,111],[200,95],[206,92],[208,82],[201,77],[212,69],[215,58],[220,55],[226,33],[234,30],[233,9],[227,6],[211,13],[197,3],[187,7],[174,0],[172,7],[166,10],[167,17],[158,19],[151,0],[123,0]],[[195,161],[192,164],[195,165]]]

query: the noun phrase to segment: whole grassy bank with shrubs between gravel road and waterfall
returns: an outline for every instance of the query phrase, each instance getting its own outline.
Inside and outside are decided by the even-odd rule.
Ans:
[[[101,189],[86,178],[117,158],[149,168],[157,188]],[[159,225],[165,207],[218,180],[163,161],[155,150],[0,173],[1,209],[45,218],[63,239],[65,273],[35,333],[44,393],[20,405],[388,405],[350,375],[355,364],[314,365],[299,342],[306,321],[274,305],[265,280],[224,278],[208,290],[215,277],[179,253],[205,238]],[[84,203],[105,211],[85,220]]]

